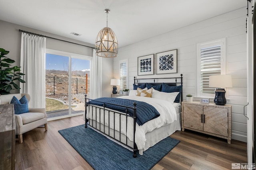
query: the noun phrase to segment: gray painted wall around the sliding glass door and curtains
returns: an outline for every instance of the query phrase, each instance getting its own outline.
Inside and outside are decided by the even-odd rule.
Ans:
[[[17,25],[14,23],[0,20],[0,37],[1,37],[0,48],[10,51],[10,53],[7,56],[10,59],[13,59],[14,61],[16,61],[13,65],[17,65],[17,66],[20,66],[21,32],[19,31],[19,29],[94,47],[94,44],[77,41],[75,39],[62,37],[60,35],[56,35],[56,34],[48,33],[38,29],[33,29],[30,27],[25,27],[22,25]],[[66,43],[63,41],[58,41],[58,40],[49,39],[49,38],[46,38],[46,48],[92,57],[92,48],[75,45],[72,43]],[[110,86],[110,79],[112,78],[112,75],[113,75],[113,59],[104,58],[102,61],[104,63],[102,64],[102,96],[110,97],[112,92],[112,89],[111,89],[112,87]],[[12,90],[11,92],[19,93],[19,90]]]

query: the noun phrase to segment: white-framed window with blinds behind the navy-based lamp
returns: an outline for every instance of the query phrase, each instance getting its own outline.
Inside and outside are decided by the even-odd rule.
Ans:
[[[218,87],[209,87],[209,76],[226,73],[225,44],[225,39],[197,44],[198,97],[214,97]]]

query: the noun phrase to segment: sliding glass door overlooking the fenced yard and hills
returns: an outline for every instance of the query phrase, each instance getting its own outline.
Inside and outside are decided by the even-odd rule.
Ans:
[[[46,51],[46,113],[48,119],[84,113],[90,95],[90,57]]]

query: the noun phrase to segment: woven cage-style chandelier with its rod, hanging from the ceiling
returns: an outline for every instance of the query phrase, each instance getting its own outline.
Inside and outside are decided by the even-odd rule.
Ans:
[[[118,42],[114,31],[108,27],[108,13],[110,10],[105,10],[107,14],[107,27],[104,27],[96,37],[96,55],[99,57],[117,57]]]

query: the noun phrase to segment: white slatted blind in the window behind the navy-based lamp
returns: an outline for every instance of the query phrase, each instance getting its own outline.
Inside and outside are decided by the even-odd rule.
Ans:
[[[221,74],[221,46],[200,48],[201,55],[201,92],[214,94],[215,88],[209,87],[209,76]]]

